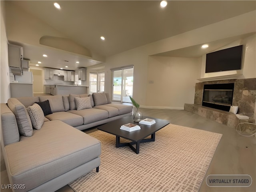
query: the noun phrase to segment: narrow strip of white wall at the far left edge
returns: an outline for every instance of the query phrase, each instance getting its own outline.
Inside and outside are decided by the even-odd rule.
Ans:
[[[9,77],[9,65],[8,65],[8,41],[6,38],[6,28],[4,20],[4,1],[0,2],[1,9],[1,60],[0,60],[0,102],[6,103],[8,98],[10,98],[10,77]]]

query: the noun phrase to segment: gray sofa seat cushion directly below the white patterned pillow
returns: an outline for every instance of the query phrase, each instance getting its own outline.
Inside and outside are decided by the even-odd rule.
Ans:
[[[101,109],[82,109],[82,110],[70,110],[68,111],[73,114],[77,114],[83,117],[84,124],[96,122],[108,118],[108,112]]]

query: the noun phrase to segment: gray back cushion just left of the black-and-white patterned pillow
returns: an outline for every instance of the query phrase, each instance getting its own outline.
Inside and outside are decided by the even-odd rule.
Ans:
[[[27,137],[32,136],[33,128],[25,106],[16,98],[8,99],[7,104],[15,115],[19,133]]]

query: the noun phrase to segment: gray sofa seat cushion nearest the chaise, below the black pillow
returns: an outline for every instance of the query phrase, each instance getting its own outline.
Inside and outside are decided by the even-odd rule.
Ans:
[[[48,118],[51,121],[52,120],[61,120],[62,122],[66,123],[70,126],[73,126],[73,127],[80,126],[80,125],[84,124],[84,120],[83,120],[82,116],[68,113],[65,111],[55,112],[53,114],[46,115],[46,118]]]

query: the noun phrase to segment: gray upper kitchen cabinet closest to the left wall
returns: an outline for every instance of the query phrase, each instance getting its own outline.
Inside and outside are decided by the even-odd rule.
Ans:
[[[22,60],[23,48],[18,45],[8,44],[8,62],[13,74],[22,74]]]

